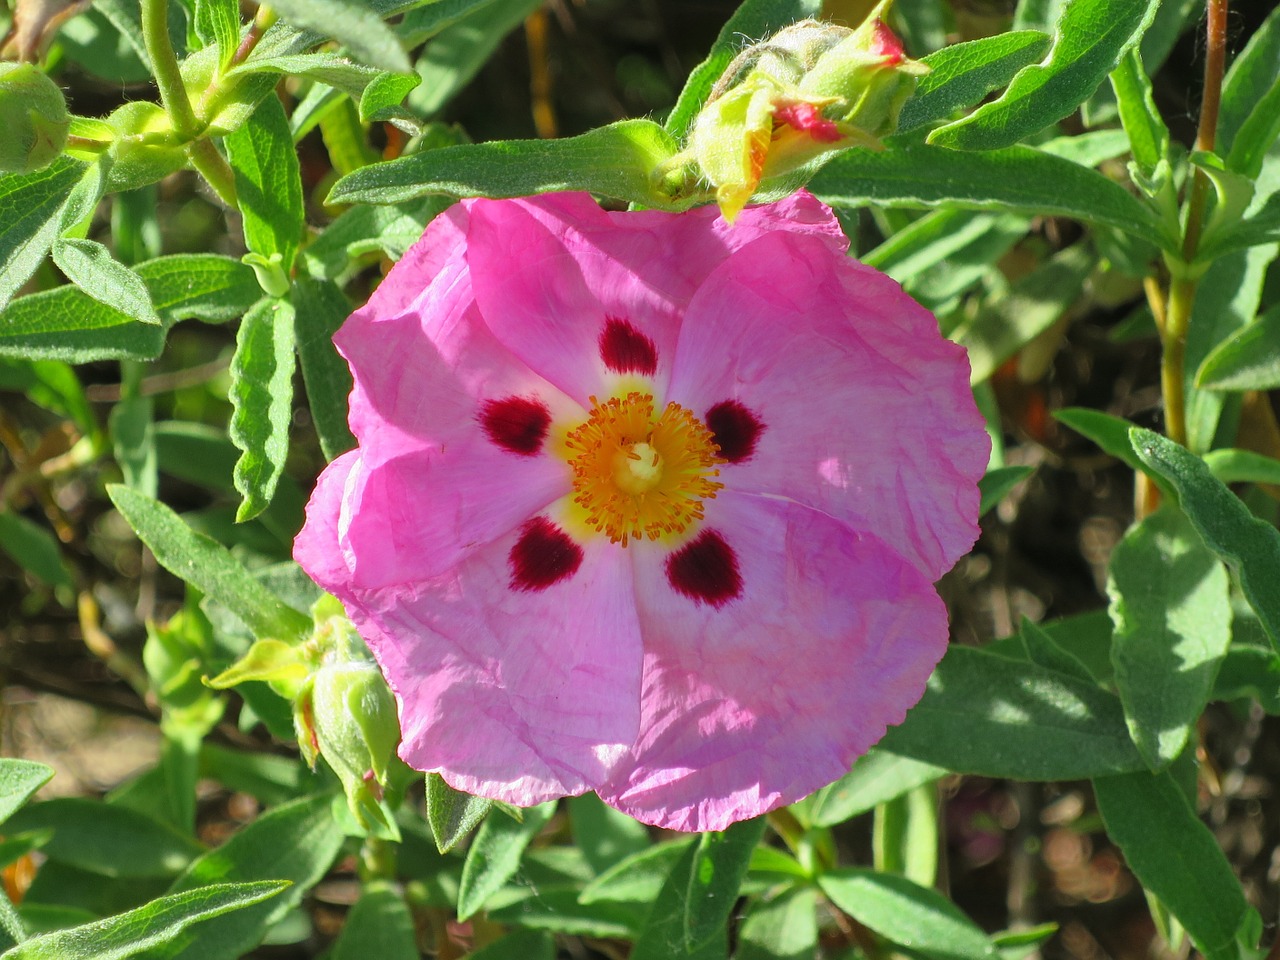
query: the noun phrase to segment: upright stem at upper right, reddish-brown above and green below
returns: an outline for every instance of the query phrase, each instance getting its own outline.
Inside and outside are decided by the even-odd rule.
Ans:
[[[1199,128],[1196,148],[1210,152],[1217,138],[1217,114],[1222,101],[1222,74],[1226,69],[1228,0],[1208,0],[1207,49],[1204,55],[1204,96],[1201,100]],[[1187,330],[1196,288],[1202,270],[1192,269],[1204,229],[1208,205],[1208,177],[1197,168],[1187,198],[1187,225],[1183,230],[1180,257],[1170,259],[1172,280],[1169,285],[1167,310],[1161,328],[1164,355],[1160,362],[1160,387],[1165,398],[1165,433],[1169,439],[1187,445]]]

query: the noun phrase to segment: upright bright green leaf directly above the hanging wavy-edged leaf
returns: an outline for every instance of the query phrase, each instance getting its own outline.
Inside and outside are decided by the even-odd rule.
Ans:
[[[244,246],[266,260],[279,257],[288,275],[302,238],[302,177],[280,101],[264,100],[248,122],[227,137],[227,152],[244,216]]]

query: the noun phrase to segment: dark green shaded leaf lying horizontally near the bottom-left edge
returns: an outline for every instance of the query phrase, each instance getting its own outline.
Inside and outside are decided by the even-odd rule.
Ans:
[[[52,829],[45,856],[104,877],[172,877],[204,850],[165,823],[84,797],[32,804],[9,818],[8,829]]]

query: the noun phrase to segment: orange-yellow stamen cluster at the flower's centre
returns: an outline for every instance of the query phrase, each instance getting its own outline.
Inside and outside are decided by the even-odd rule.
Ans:
[[[703,500],[724,484],[712,431],[678,403],[654,416],[653,397],[628,393],[600,403],[564,439],[573,502],[586,524],[614,543],[681,534],[703,518]]]

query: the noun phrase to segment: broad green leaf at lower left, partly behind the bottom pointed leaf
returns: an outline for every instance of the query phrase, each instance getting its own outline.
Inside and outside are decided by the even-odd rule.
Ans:
[[[297,908],[324,877],[342,849],[342,832],[330,809],[328,794],[276,806],[191,864],[170,893],[265,879],[289,881],[292,886],[269,902],[186,931],[168,947],[147,954],[147,960],[238,960],[257,946],[268,928]]]

